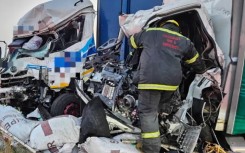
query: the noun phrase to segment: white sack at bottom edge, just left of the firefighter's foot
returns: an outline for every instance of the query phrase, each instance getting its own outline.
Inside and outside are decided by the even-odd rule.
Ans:
[[[131,144],[123,144],[120,141],[104,137],[87,138],[86,142],[81,144],[81,150],[85,150],[87,153],[112,153],[113,151],[118,153],[140,153]]]

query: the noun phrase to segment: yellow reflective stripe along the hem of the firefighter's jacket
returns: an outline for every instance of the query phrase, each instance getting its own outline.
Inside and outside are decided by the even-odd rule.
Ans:
[[[179,86],[164,85],[164,84],[139,84],[138,89],[166,90],[175,91]]]

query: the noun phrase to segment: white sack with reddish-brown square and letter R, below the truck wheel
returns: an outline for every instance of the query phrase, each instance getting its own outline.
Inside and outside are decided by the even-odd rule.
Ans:
[[[36,150],[58,150],[66,143],[75,144],[79,140],[80,123],[71,115],[43,121],[31,132],[30,146]]]

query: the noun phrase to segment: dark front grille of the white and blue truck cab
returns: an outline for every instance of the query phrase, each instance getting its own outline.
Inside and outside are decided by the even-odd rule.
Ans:
[[[20,71],[15,75],[12,75],[10,73],[2,74],[1,88],[22,85],[24,81],[26,81],[26,79],[28,78],[27,76],[25,76],[26,74],[27,74],[27,70]]]

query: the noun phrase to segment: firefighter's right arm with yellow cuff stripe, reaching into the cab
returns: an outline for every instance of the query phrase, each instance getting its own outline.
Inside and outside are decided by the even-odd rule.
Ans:
[[[184,54],[184,62],[188,64],[196,73],[204,73],[206,71],[205,62],[196,51],[192,42],[189,42],[187,51]]]

